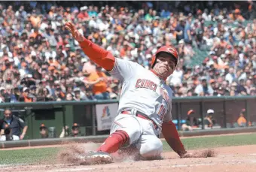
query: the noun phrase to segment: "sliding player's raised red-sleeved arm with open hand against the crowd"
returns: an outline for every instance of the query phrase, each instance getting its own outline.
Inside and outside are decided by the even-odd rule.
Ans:
[[[92,41],[87,40],[75,29],[73,23],[65,23],[65,28],[72,33],[73,38],[79,42],[81,49],[84,53],[97,65],[105,68],[106,71],[111,71],[114,68],[115,57],[108,51],[102,49]]]

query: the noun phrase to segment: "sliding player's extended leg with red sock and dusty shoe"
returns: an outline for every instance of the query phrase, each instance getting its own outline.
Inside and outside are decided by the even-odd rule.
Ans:
[[[117,152],[123,146],[130,146],[138,141],[141,135],[142,127],[139,120],[129,114],[120,114],[114,119],[111,133],[105,142],[96,152],[87,153],[86,157],[81,157],[81,160],[86,164],[92,164],[95,161],[97,164],[111,163],[113,161],[111,153]]]

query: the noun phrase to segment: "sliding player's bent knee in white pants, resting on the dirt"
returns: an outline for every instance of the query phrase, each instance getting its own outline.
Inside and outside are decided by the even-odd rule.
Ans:
[[[163,152],[162,141],[153,134],[142,134],[136,147],[143,158],[159,158]]]

